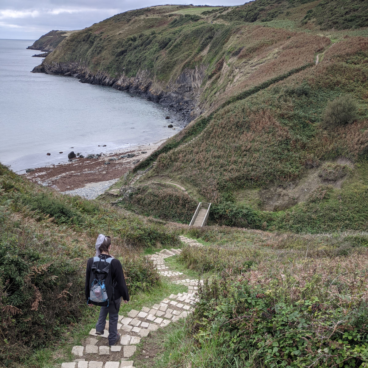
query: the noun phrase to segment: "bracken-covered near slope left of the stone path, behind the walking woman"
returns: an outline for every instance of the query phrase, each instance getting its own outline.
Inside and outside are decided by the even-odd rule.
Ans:
[[[23,365],[60,344],[86,314],[84,273],[99,233],[112,236],[130,294],[159,284],[144,248],[178,243],[174,231],[96,201],[31,184],[0,164],[0,360]],[[29,366],[29,365],[28,365]]]

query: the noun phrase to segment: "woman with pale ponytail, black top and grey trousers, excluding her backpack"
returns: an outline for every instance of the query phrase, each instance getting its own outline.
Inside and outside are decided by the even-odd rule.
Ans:
[[[129,294],[127,289],[127,284],[125,283],[123,268],[121,266],[120,261],[110,255],[111,250],[111,240],[109,236],[105,236],[103,234],[99,234],[96,240],[96,256],[101,259],[101,261],[105,261],[109,258],[110,263],[110,271],[111,271],[111,280],[113,287],[113,295],[114,300],[108,302],[106,307],[101,307],[100,315],[98,321],[96,323],[96,335],[103,335],[103,330],[106,325],[106,316],[109,314],[109,345],[115,345],[120,340],[120,334],[117,332],[117,322],[118,322],[118,314],[120,309],[121,298],[123,298],[124,303],[129,301]],[[89,307],[92,307],[93,304],[89,302],[90,299],[90,279],[91,279],[91,271],[93,265],[93,258],[89,258],[87,262],[86,269],[86,283],[85,283],[85,294],[86,300]]]

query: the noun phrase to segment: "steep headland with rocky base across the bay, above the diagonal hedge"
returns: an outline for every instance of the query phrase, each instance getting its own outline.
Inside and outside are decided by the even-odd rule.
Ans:
[[[316,34],[227,24],[206,11],[158,6],[114,15],[74,32],[34,71],[71,73],[81,82],[138,93],[194,119],[310,63],[330,44]]]

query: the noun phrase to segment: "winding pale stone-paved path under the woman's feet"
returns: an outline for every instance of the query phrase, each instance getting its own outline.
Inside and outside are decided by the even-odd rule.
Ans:
[[[183,236],[180,236],[180,240],[190,246],[203,246],[197,240]],[[183,275],[183,272],[170,270],[164,260],[180,252],[181,249],[163,249],[147,257],[152,259],[160,275],[174,277]],[[200,282],[203,283],[202,280]],[[173,283],[188,286],[188,292],[171,294],[151,307],[142,307],[139,311],[131,309],[126,316],[119,315],[120,341],[114,346],[106,345],[109,321],[106,321],[103,335],[96,335],[96,329],[91,329],[90,336],[82,345],[72,347],[71,353],[75,360],[62,363],[61,368],[134,368],[133,361],[129,359],[142,339],[159,328],[186,318],[194,310],[193,305],[198,300],[195,294],[198,280],[183,279]]]

